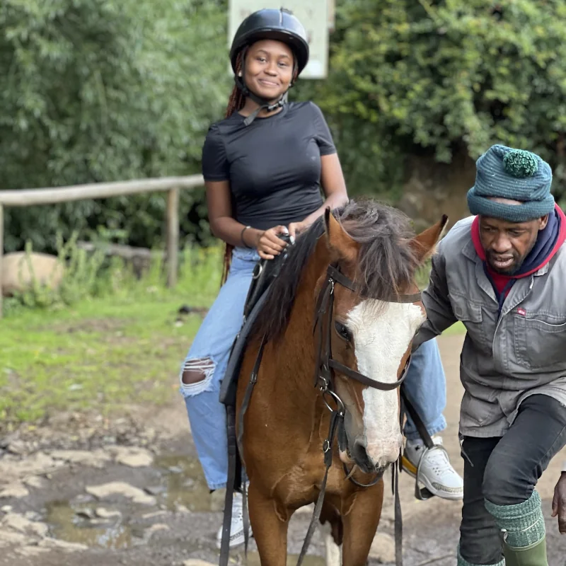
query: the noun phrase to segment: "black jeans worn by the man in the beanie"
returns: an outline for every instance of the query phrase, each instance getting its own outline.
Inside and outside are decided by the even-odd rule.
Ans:
[[[499,529],[484,499],[496,505],[526,501],[550,460],[565,445],[566,407],[548,395],[526,398],[503,437],[464,437],[462,558],[477,565],[502,559]]]

